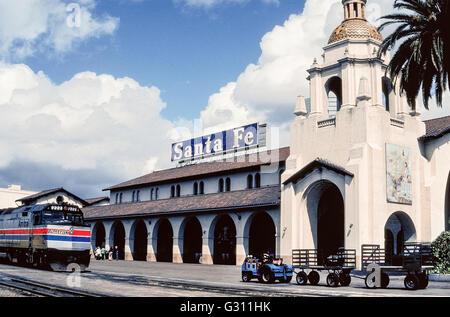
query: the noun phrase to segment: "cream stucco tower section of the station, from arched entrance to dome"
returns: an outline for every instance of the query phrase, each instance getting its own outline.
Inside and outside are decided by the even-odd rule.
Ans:
[[[342,1],[344,21],[308,70],[310,111],[298,100],[282,176],[285,258],[344,246],[359,259],[363,244],[376,244],[389,262],[405,242],[449,228],[450,117],[423,122],[410,109],[387,77],[389,52],[378,56],[366,2]]]

